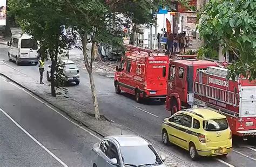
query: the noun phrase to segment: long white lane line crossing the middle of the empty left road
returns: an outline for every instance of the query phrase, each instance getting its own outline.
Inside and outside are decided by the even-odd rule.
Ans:
[[[53,153],[51,153],[50,150],[48,150],[46,147],[43,146],[43,144],[41,144],[39,141],[37,141],[35,139],[35,137],[33,137],[30,133],[28,133],[21,125],[19,125],[14,119],[12,119],[10,117],[10,115],[8,115],[5,111],[2,110],[2,108],[0,108],[0,111],[2,111],[2,113],[8,117],[12,122],[14,122],[14,124],[21,129],[26,135],[28,135],[33,141],[35,141],[41,148],[43,148],[48,154],[50,154],[53,158],[55,158],[60,164],[62,164],[65,167],[68,167],[68,165],[66,165],[63,161],[61,161],[56,155],[54,155]]]

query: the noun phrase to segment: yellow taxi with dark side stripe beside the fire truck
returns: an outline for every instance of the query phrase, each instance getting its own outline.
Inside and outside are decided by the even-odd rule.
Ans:
[[[189,151],[193,160],[200,156],[226,156],[232,150],[232,133],[226,116],[210,108],[179,111],[162,124],[164,144]]]

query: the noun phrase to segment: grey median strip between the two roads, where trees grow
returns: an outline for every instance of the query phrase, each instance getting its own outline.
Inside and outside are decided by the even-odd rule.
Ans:
[[[53,98],[50,94],[50,88],[48,85],[40,85],[36,79],[8,66],[3,61],[0,61],[0,77],[7,77],[10,81],[15,82],[23,89],[27,90],[31,95],[39,97],[47,103],[55,106],[68,117],[91,129],[100,137],[120,135],[121,131],[123,135],[137,135],[122,125],[108,121],[103,116],[102,121],[96,121],[93,114],[92,104],[81,104],[75,99],[67,98],[65,96]],[[166,166],[186,166],[183,164],[183,161],[175,155],[167,155],[160,147],[154,147],[166,156]]]

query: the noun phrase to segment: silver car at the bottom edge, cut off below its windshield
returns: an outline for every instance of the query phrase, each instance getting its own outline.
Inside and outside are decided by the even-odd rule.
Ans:
[[[93,148],[93,167],[102,166],[165,166],[165,157],[138,136],[108,136]]]

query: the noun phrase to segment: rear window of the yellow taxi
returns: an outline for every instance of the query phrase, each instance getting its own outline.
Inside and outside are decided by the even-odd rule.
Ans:
[[[228,123],[225,118],[207,120],[207,121],[204,121],[203,123],[204,123],[204,129],[210,132],[225,130],[228,128]]]

